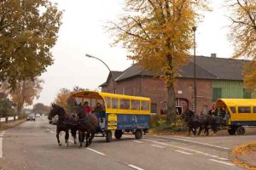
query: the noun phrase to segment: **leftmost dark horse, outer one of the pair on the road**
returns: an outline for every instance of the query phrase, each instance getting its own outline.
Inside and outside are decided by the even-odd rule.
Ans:
[[[52,104],[52,109],[49,112],[48,119],[51,121],[53,117],[59,116],[58,122],[57,122],[57,128],[56,128],[56,138],[58,140],[59,146],[61,146],[60,138],[59,135],[61,131],[65,132],[65,141],[68,146],[68,138],[69,138],[69,133],[68,130],[71,130],[73,139],[74,139],[74,144],[76,144],[76,133],[77,133],[77,117],[75,114],[67,114],[66,111],[60,106],[60,105],[55,105]]]

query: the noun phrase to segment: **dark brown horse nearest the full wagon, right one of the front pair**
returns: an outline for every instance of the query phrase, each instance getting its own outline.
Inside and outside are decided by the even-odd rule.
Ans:
[[[86,139],[85,147],[88,147],[96,133],[96,127],[98,126],[98,118],[95,114],[84,114],[83,107],[80,105],[77,110],[79,116],[78,130],[79,130],[79,143],[80,147]]]

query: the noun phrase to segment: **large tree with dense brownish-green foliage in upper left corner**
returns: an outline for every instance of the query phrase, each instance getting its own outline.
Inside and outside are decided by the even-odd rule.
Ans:
[[[61,15],[49,0],[1,0],[0,81],[15,87],[53,64]]]

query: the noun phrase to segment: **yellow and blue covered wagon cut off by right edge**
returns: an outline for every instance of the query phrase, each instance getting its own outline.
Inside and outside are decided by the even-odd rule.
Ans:
[[[217,108],[226,111],[224,123],[230,134],[243,135],[246,126],[256,126],[256,99],[218,99]]]

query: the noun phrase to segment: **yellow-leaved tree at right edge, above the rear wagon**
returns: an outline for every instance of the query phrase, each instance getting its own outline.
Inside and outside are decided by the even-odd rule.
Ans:
[[[230,26],[230,41],[235,49],[234,58],[250,59],[243,74],[244,82],[249,92],[256,90],[256,1],[227,1],[232,25]]]

